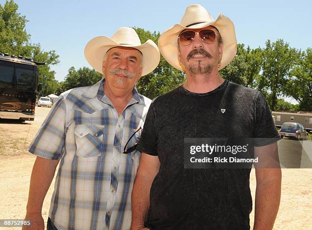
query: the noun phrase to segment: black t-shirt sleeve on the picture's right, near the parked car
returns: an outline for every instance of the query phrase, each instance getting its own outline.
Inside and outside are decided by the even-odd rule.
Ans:
[[[256,98],[253,138],[254,146],[266,146],[280,139],[269,105],[260,92]]]

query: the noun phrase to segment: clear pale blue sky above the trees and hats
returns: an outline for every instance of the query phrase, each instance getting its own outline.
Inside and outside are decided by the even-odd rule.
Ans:
[[[0,0],[1,5],[5,1]],[[63,80],[71,66],[89,66],[84,47],[96,36],[112,36],[118,27],[137,26],[163,32],[180,22],[187,6],[200,4],[214,19],[219,12],[235,24],[239,43],[252,48],[281,38],[291,47],[312,47],[312,1],[38,1],[15,0],[18,12],[29,20],[31,42],[56,50],[60,64],[56,79]]]

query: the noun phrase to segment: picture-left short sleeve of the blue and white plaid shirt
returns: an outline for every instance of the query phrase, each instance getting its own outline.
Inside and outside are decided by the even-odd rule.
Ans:
[[[32,140],[28,151],[46,159],[61,159],[66,136],[65,122],[65,99],[60,96]]]

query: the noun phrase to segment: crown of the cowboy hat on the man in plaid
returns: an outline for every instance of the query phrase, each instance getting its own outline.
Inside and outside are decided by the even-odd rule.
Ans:
[[[115,42],[121,45],[138,46],[141,45],[140,38],[133,28],[120,27],[111,37]]]

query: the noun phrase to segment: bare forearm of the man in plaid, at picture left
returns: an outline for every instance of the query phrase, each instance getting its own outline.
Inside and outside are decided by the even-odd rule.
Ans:
[[[27,213],[25,220],[31,220],[32,225],[22,229],[44,229],[41,215],[44,197],[53,180],[56,167],[60,160],[49,160],[37,157],[30,181]]]

